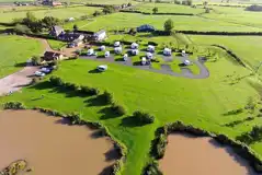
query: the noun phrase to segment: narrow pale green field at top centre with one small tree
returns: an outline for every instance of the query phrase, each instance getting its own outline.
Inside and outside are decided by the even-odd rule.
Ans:
[[[174,3],[145,3],[136,9],[143,11],[143,12],[152,12],[152,9],[157,7],[158,12],[160,13],[202,13],[204,12],[204,9],[194,9],[187,5],[178,5]]]

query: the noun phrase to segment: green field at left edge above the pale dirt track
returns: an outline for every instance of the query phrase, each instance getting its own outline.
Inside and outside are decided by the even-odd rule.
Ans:
[[[22,69],[19,65],[43,51],[43,46],[38,40],[19,36],[0,36],[0,78]]]

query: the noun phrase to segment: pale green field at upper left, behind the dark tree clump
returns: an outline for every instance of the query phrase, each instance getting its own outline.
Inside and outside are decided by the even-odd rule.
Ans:
[[[45,9],[45,10],[36,10],[32,11],[36,18],[44,16],[55,16],[58,19],[68,19],[68,18],[80,18],[82,15],[92,14],[95,10],[100,10],[100,8],[92,7],[73,7],[73,8],[62,8],[62,9]],[[0,12],[0,22],[11,22],[13,19],[24,18],[26,11],[9,11],[9,12]]]

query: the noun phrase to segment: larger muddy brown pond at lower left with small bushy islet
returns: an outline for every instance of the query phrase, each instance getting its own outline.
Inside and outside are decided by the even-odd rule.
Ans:
[[[30,175],[102,175],[117,158],[109,138],[32,110],[0,112],[0,170],[24,159]]]

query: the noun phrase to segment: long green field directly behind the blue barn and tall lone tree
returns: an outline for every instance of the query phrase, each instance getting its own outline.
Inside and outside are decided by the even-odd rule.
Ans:
[[[244,26],[228,22],[217,22],[216,20],[203,19],[198,16],[171,16],[171,15],[143,15],[133,13],[114,13],[106,16],[100,16],[94,21],[79,21],[79,27],[82,30],[98,31],[99,28],[117,30],[125,27],[137,27],[141,24],[150,24],[156,28],[162,30],[166,20],[172,19],[174,30],[193,31],[228,31],[228,32],[250,32],[262,31],[262,28]],[[75,23],[67,24],[65,27],[71,28]]]

